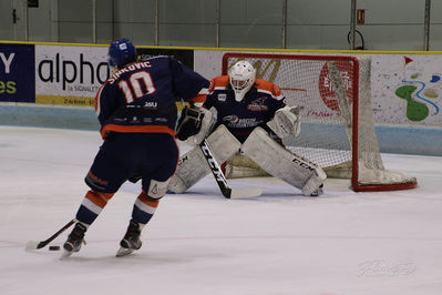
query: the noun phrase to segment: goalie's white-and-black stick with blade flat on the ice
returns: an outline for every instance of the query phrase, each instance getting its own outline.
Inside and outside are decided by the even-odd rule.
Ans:
[[[204,154],[204,157],[207,161],[207,164],[212,171],[212,174],[214,175],[214,177],[216,180],[216,183],[219,186],[219,190],[222,191],[222,193],[225,197],[227,197],[227,199],[254,197],[254,196],[259,196],[263,193],[261,189],[246,189],[246,190],[230,189],[230,186],[227,184],[226,176],[224,176],[218,162],[216,162],[216,160],[210,151],[210,148],[208,146],[207,141],[204,140],[199,144],[199,148]]]

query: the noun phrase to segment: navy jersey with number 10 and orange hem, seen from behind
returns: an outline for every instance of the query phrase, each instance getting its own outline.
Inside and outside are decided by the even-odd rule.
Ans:
[[[172,57],[125,65],[101,87],[95,111],[107,132],[168,133],[175,136],[177,99],[204,102],[208,80]]]

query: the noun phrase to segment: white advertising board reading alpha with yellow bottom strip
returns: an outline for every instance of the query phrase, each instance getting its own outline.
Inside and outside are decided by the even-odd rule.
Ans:
[[[106,61],[105,47],[35,45],[35,103],[93,106]]]

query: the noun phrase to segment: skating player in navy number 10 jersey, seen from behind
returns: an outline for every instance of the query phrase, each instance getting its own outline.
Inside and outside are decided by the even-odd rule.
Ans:
[[[120,186],[138,179],[142,192],[116,256],[141,247],[141,232],[154,215],[176,170],[175,135],[185,140],[198,131],[201,123],[198,116],[183,114],[175,132],[175,100],[201,103],[198,100],[205,99],[209,85],[206,79],[172,57],[137,61],[135,47],[127,39],[111,43],[109,59],[114,73],[95,98],[104,142],[85,177],[90,191],[76,212],[76,223],[63,245],[62,257],[80,251],[88,227]]]

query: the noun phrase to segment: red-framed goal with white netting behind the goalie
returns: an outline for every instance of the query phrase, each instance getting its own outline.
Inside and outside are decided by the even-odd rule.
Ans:
[[[417,186],[417,180],[383,166],[374,132],[369,55],[225,53],[223,74],[238,60],[256,77],[282,90],[289,105],[302,106],[301,132],[285,139],[294,153],[319,164],[329,177],[350,179],[352,190]]]

